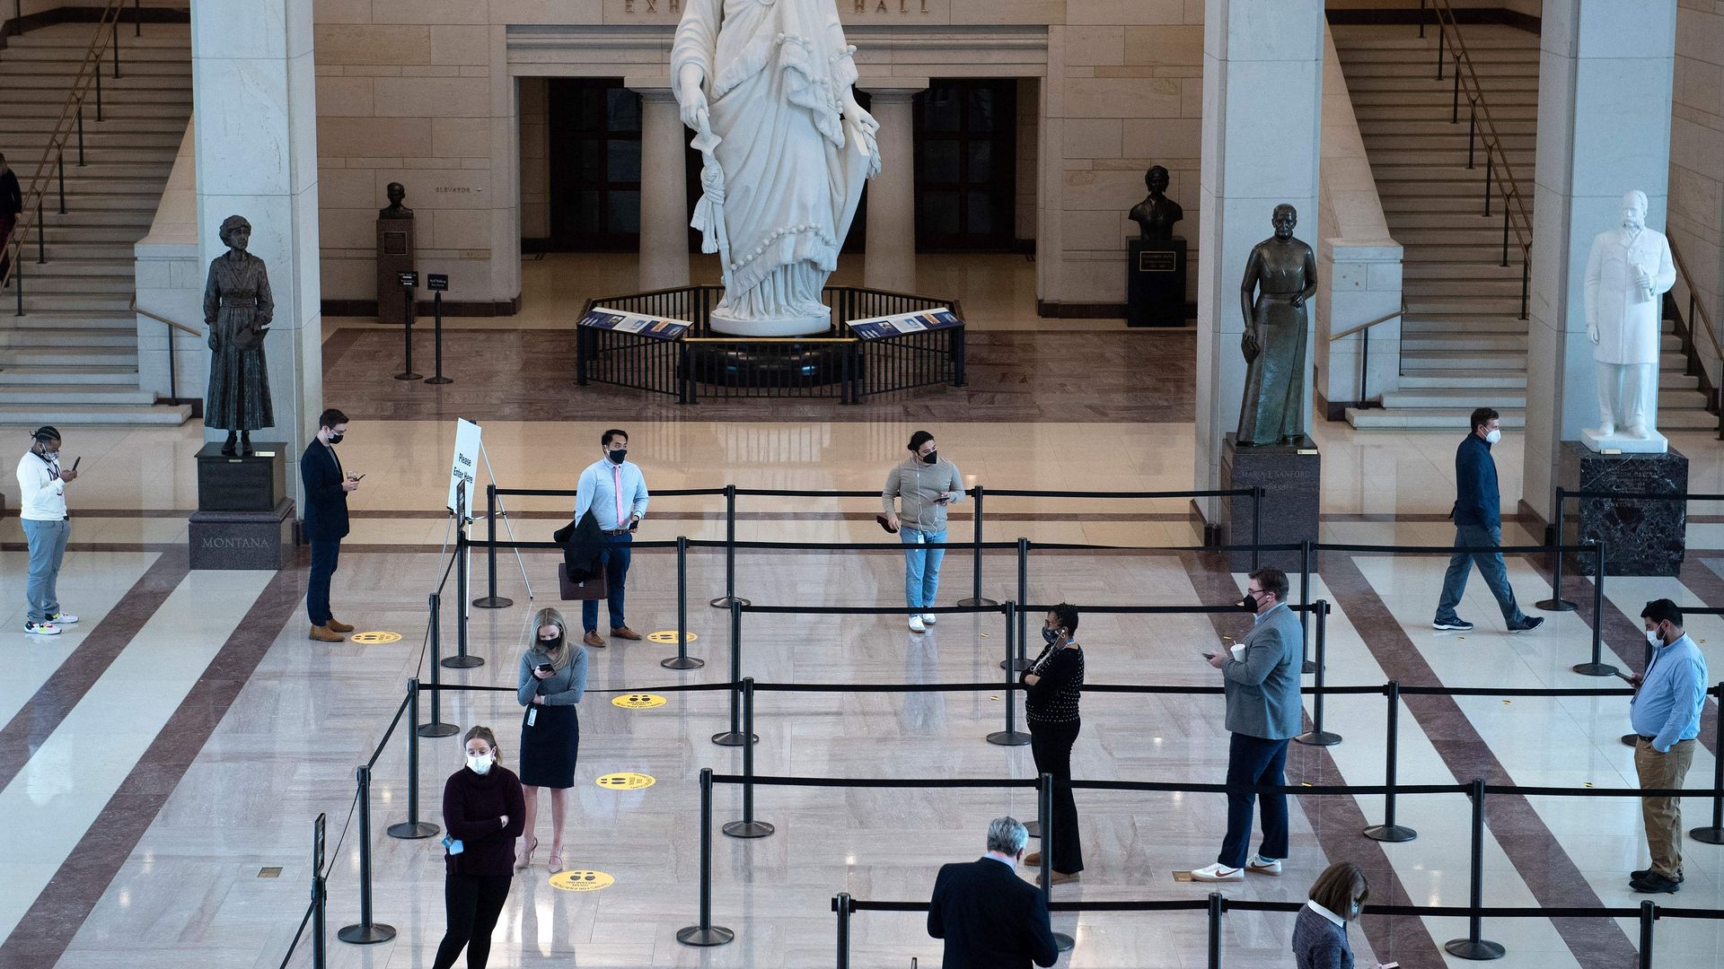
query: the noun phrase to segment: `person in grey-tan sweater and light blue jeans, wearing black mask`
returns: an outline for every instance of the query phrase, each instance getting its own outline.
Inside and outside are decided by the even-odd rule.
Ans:
[[[934,605],[940,562],[946,557],[945,548],[922,547],[945,545],[946,505],[964,500],[964,478],[959,466],[940,457],[928,431],[910,434],[909,448],[910,457],[886,474],[879,500],[886,509],[886,529],[896,531],[898,540],[909,545],[903,550],[903,603],[910,609],[910,631],[922,633],[938,621],[922,609]]]

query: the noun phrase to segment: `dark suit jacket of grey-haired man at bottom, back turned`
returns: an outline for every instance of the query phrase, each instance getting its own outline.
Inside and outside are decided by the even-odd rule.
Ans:
[[[945,969],[1029,969],[1060,957],[1041,890],[990,857],[940,867],[928,935],[946,940]]]

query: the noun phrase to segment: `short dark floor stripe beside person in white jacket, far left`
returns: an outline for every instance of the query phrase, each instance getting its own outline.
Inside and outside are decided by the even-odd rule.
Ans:
[[[12,778],[29,762],[31,753],[59,729],[66,714],[72,712],[72,707],[84,698],[95,681],[107,672],[114,659],[155,616],[169,593],[179,588],[186,569],[184,545],[164,552],[88,633],[81,636],[79,633],[62,633],[57,640],[48,640],[50,643],[78,643],[78,647],[71,650],[60,669],[36,690],[36,695],[19,709],[17,716],[0,728],[0,788],[12,783]],[[76,607],[78,603],[67,602],[66,605]]]

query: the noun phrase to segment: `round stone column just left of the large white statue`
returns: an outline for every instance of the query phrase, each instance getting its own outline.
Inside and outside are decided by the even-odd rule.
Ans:
[[[683,124],[669,78],[624,78],[641,97],[641,290],[688,284],[688,174],[695,136]]]

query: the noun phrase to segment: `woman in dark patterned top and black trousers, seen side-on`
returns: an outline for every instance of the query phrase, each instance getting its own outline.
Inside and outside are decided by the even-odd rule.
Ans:
[[[1055,781],[1072,779],[1072,745],[1078,741],[1078,698],[1083,691],[1083,648],[1072,641],[1078,633],[1078,607],[1055,605],[1041,624],[1046,647],[1024,671],[1024,719],[1029,721],[1029,753],[1036,774]],[[1083,841],[1078,838],[1078,802],[1069,786],[1053,785],[1052,831],[1041,833],[1041,845],[1053,852],[1048,867],[1053,885],[1074,881],[1083,871]],[[1041,852],[1024,857],[1024,864],[1041,864]],[[1036,876],[1040,883],[1041,876]]]

